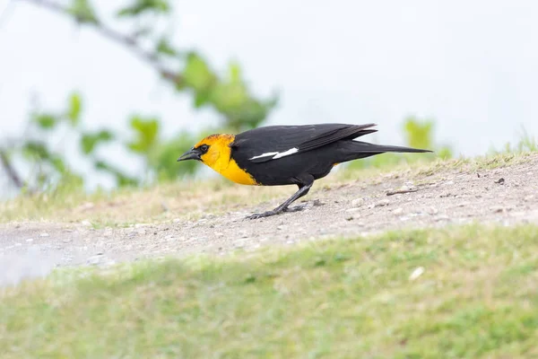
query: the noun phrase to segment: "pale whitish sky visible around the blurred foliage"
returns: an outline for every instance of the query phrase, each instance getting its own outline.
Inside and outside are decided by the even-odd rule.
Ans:
[[[91,29],[15,3],[0,23],[0,140],[21,131],[31,93],[56,109],[74,89],[92,128],[125,128],[133,111],[160,116],[170,134],[216,120]],[[538,135],[533,0],[176,4],[178,45],[201,50],[220,69],[239,60],[257,94],[280,91],[270,124],[375,122],[377,143],[402,144],[406,116],[432,117],[438,142],[465,155],[516,141],[522,125]]]

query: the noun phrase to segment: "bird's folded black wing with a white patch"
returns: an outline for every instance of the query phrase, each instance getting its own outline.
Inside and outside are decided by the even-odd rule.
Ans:
[[[245,131],[236,136],[232,155],[249,162],[278,160],[295,153],[304,153],[343,139],[352,139],[376,132],[375,124],[321,124],[305,126],[268,126]]]

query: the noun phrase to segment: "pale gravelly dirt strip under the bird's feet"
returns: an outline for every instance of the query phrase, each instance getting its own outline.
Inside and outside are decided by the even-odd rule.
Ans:
[[[313,190],[304,211],[245,220],[285,197],[194,222],[93,229],[87,223],[0,224],[0,285],[42,276],[59,266],[108,266],[120,261],[195,253],[224,254],[261,246],[288,246],[338,236],[449,224],[538,223],[538,155],[510,167],[445,170],[414,177],[380,175]],[[316,187],[316,184],[315,184]],[[412,190],[387,196],[395,189]],[[295,188],[290,188],[290,195]]]

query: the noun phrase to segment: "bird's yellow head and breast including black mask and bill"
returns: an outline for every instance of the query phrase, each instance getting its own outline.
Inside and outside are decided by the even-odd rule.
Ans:
[[[207,136],[186,153],[183,153],[178,161],[197,160],[204,162],[228,180],[244,185],[257,185],[256,180],[247,171],[239,168],[238,163],[231,157],[230,145],[234,139],[235,136],[226,134]]]

